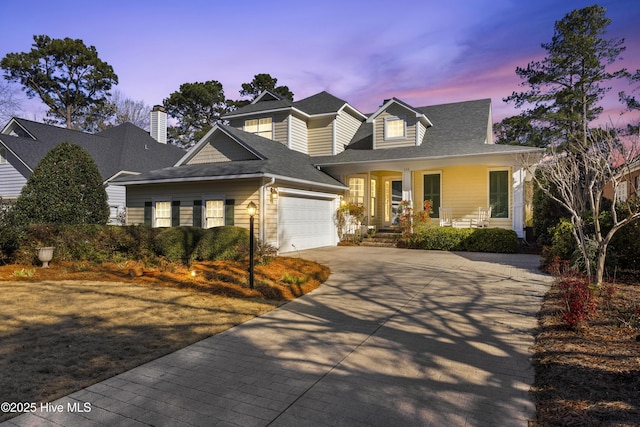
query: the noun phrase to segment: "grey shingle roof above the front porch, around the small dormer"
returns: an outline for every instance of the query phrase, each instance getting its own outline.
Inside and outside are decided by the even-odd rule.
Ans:
[[[335,156],[316,157],[314,163],[331,165],[532,151],[530,147],[486,143],[490,108],[490,99],[415,108],[433,123],[426,129],[420,146],[374,150],[373,124],[363,123],[345,151]]]

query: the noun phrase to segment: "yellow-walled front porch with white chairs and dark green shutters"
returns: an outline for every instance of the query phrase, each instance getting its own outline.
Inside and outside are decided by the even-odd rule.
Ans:
[[[397,227],[403,200],[414,211],[424,209],[424,202],[430,200],[434,225],[498,227],[524,237],[524,177],[524,170],[514,166],[370,170],[344,176],[349,186],[344,200],[364,207],[362,225],[370,229]],[[441,208],[448,212],[447,218]]]

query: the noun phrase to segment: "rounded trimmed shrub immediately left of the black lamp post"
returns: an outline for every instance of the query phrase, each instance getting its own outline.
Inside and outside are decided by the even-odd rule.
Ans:
[[[242,247],[249,246],[249,230],[242,227],[222,226],[204,230],[191,259],[194,261],[239,260],[245,254]]]

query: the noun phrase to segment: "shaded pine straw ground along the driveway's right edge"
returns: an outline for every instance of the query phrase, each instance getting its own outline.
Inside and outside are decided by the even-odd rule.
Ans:
[[[560,318],[558,288],[549,290],[534,347],[536,425],[640,425],[640,285],[634,283],[604,285],[597,314],[577,329]]]

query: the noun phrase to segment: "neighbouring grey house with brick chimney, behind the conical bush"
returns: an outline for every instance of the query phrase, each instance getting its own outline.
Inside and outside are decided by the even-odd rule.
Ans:
[[[166,113],[158,110],[151,113],[152,119],[163,115]],[[165,143],[131,123],[89,134],[13,118],[0,132],[0,197],[9,202],[17,199],[44,156],[61,142],[71,142],[87,150],[96,162],[111,207],[110,222],[116,223],[125,207],[125,187],[111,182],[121,176],[174,165],[185,153],[166,144],[166,128],[156,129],[155,133],[165,135]]]

